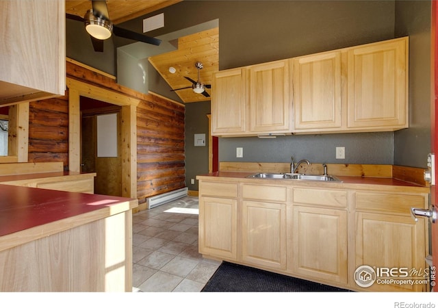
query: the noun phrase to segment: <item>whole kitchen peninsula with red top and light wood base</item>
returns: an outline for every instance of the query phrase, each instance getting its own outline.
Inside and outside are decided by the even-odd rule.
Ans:
[[[0,191],[0,292],[131,292],[136,199]]]

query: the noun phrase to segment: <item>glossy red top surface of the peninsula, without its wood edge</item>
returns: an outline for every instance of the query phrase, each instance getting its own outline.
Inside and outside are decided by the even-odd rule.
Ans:
[[[137,199],[0,184],[0,236]],[[133,206],[135,207],[135,206]]]

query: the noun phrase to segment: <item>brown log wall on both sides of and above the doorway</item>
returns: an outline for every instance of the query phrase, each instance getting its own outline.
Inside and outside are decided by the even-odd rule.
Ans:
[[[67,76],[140,99],[137,107],[137,197],[185,187],[185,107],[116,84],[106,75],[67,61]],[[68,91],[29,107],[29,162],[60,162],[68,170]],[[140,208],[140,207],[139,207]]]

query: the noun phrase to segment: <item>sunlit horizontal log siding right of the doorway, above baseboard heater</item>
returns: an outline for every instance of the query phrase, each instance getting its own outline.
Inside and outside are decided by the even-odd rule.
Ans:
[[[184,111],[160,97],[137,107],[137,197],[185,187]]]

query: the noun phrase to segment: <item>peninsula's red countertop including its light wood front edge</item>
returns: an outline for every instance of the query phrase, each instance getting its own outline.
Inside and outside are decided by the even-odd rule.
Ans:
[[[13,185],[0,184],[0,192],[0,251],[138,206],[132,198]]]

